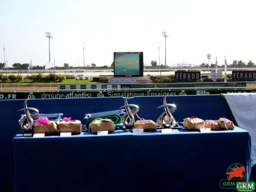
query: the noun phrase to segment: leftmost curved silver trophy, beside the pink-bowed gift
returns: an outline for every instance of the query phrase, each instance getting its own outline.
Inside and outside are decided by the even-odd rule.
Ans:
[[[28,107],[27,106],[28,99],[25,99],[23,103],[23,108],[19,109],[17,111],[24,111],[25,115],[22,115],[22,117],[19,120],[20,127],[23,131],[29,131],[33,127],[33,117],[36,117],[39,114],[38,109]],[[33,112],[30,113],[29,110],[32,110]]]

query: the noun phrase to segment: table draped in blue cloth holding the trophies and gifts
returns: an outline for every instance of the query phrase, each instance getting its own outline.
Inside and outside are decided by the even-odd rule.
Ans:
[[[251,168],[251,139],[239,127],[209,133],[19,134],[12,144],[14,192],[227,191],[220,182],[227,180],[228,167],[245,166],[247,180]]]

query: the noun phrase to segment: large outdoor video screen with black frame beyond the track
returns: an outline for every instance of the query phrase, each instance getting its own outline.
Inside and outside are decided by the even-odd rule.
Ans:
[[[143,52],[114,52],[115,77],[142,77]]]

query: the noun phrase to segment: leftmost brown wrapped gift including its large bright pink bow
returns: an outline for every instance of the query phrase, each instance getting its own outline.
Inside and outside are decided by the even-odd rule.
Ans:
[[[57,123],[48,120],[47,117],[39,117],[34,121],[33,133],[45,133],[47,135],[55,135],[58,133]]]

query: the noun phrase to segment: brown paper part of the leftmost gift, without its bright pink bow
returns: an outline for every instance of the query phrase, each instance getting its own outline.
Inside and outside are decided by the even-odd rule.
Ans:
[[[45,133],[48,135],[54,135],[58,133],[57,123],[49,121],[47,124],[35,123],[33,125],[33,133]]]

